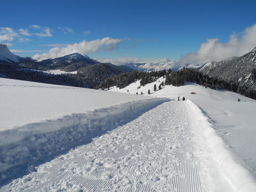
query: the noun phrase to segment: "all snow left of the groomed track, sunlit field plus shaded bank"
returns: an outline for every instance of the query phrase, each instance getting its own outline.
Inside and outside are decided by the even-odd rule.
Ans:
[[[0,78],[0,186],[168,100]]]

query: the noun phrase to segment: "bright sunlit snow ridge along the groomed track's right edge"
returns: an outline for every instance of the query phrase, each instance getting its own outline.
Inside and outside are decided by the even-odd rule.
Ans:
[[[195,115],[196,126],[203,129],[207,144],[212,152],[212,157],[218,162],[227,182],[236,191],[256,191],[255,181],[247,170],[238,163],[239,160],[228,150],[223,139],[219,137],[217,132],[213,129],[209,119],[193,101],[187,100],[187,103]]]

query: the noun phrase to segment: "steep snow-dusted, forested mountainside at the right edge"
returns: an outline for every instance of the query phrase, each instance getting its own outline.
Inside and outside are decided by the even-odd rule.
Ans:
[[[207,62],[199,70],[211,77],[239,81],[256,89],[256,47],[241,57]]]

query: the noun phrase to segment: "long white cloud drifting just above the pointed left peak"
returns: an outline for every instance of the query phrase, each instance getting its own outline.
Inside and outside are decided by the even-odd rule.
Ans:
[[[63,55],[68,55],[71,53],[88,54],[97,51],[111,51],[116,49],[119,43],[123,39],[113,39],[110,37],[105,37],[102,39],[96,39],[92,41],[83,40],[79,43],[68,45],[66,47],[55,47],[49,50],[48,53],[35,54],[33,58],[54,58]]]

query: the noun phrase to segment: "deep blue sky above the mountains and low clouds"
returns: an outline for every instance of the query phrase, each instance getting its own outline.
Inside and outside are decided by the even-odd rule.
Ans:
[[[93,58],[177,60],[197,53],[209,38],[226,43],[236,33],[241,39],[244,30],[256,24],[255,0],[4,1],[1,7],[0,42],[20,56],[84,40],[87,48],[82,52]],[[110,39],[102,40],[105,37]],[[104,42],[97,44],[96,39]]]

